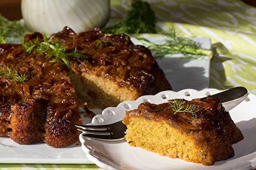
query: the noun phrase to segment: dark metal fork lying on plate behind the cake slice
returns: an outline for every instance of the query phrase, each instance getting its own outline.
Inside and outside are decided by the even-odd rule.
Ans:
[[[247,89],[244,87],[234,87],[223,92],[207,96],[206,98],[219,98],[226,111],[236,107],[242,101],[247,98]],[[205,98],[201,98],[203,100]],[[114,124],[109,125],[75,125],[77,130],[85,132],[83,137],[117,141],[124,139],[126,126],[122,123],[122,120]]]

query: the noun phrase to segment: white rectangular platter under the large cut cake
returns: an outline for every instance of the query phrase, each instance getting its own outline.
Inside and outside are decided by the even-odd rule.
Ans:
[[[162,41],[162,37],[148,37],[152,42]],[[138,40],[132,38],[135,44]],[[205,49],[211,48],[210,39],[195,38],[195,42],[201,44]],[[180,59],[180,55],[166,56],[158,60],[167,80],[173,89],[178,91],[184,88],[195,88],[201,90],[209,87],[210,58],[205,57],[197,60]],[[186,82],[184,83],[184,80]],[[189,83],[187,83],[189,82]],[[101,113],[102,110],[93,110]],[[83,119],[83,124],[91,120]],[[10,138],[0,137],[0,163],[92,163],[79,145],[69,148],[51,148],[45,143],[20,145]]]

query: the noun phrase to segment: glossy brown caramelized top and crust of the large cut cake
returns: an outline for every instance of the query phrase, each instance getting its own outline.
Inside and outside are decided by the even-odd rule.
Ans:
[[[25,42],[40,33],[28,34]],[[20,144],[46,142],[52,147],[66,147],[78,139],[74,124],[81,124],[82,106],[69,77],[70,70],[89,72],[115,81],[119,86],[135,87],[141,94],[155,94],[171,89],[151,52],[134,45],[125,35],[105,36],[99,29],[80,34],[70,28],[53,35],[53,41],[67,52],[79,51],[88,56],[76,60],[66,56],[69,69],[61,61],[52,62],[46,54],[27,53],[21,44],[0,44],[0,68],[8,66],[26,74],[24,83],[0,79],[0,136],[9,136]],[[167,87],[161,86],[162,78]]]

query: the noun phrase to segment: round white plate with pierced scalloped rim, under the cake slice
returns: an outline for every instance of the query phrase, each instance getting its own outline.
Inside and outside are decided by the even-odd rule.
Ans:
[[[136,109],[140,103],[145,101],[160,104],[170,99],[183,98],[191,100],[218,92],[220,90],[217,89],[204,89],[201,91],[185,89],[179,92],[162,91],[156,95],[141,96],[136,101],[126,101],[120,103],[117,107],[104,109],[102,114],[93,118],[92,125],[111,124],[122,120],[125,111]],[[82,150],[86,153],[88,159],[103,169],[252,169],[256,168],[255,104],[256,96],[249,94],[245,101],[229,111],[231,118],[241,129],[244,139],[232,145],[235,153],[234,157],[218,161],[212,166],[160,156],[138,147],[130,147],[125,140],[104,142],[86,139],[82,135],[79,136],[79,139],[82,143]]]

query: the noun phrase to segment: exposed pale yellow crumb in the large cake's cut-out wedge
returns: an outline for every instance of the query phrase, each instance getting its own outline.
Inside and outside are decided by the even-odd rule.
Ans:
[[[112,80],[92,74],[78,75],[72,72],[71,78],[78,99],[81,102],[87,102],[89,108],[104,109],[109,106],[117,106],[123,101],[133,101],[140,96],[135,89],[120,87]]]

